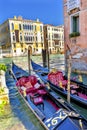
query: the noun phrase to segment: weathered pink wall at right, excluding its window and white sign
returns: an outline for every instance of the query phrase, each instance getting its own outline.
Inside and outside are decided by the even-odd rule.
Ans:
[[[87,71],[87,0],[80,0],[80,8],[67,12],[67,0],[64,0],[64,42],[66,60],[68,59],[67,44],[71,49],[72,68]],[[70,34],[70,17],[79,13],[79,32],[80,36],[69,37]]]

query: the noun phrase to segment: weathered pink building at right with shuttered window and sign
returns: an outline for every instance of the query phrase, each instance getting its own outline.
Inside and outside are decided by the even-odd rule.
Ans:
[[[87,0],[64,0],[64,45],[66,68],[87,71]]]

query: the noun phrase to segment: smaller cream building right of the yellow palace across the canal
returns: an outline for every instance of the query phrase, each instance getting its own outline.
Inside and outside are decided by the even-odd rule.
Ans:
[[[44,47],[50,53],[64,53],[64,26],[44,25]]]

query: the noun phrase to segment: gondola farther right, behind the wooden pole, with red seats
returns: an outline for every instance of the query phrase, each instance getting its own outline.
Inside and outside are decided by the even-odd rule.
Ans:
[[[41,80],[44,81],[44,83],[49,83],[50,87],[53,90],[67,97],[68,80],[61,71],[57,71],[54,73],[49,72],[47,68],[44,68],[36,64],[32,60],[31,60],[31,64],[32,64],[33,70],[41,78]],[[70,89],[71,89],[71,94],[70,94],[71,100],[78,103],[78,105],[82,107],[83,106],[87,107],[87,86],[71,79]]]

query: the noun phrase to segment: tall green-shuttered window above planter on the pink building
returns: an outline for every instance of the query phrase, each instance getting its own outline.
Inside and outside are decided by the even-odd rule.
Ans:
[[[79,14],[71,16],[71,33],[79,32]]]

